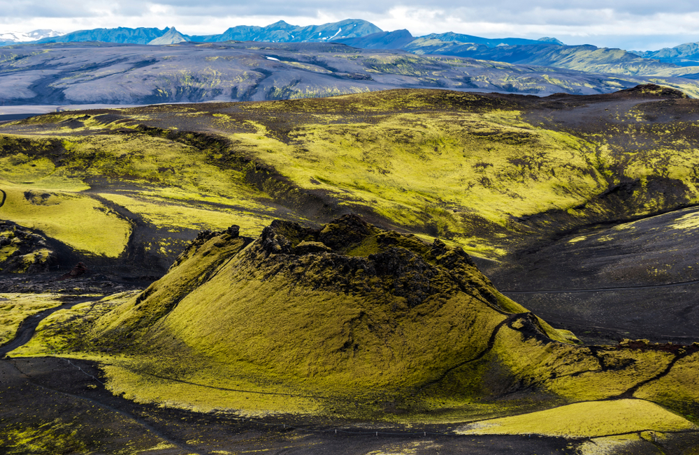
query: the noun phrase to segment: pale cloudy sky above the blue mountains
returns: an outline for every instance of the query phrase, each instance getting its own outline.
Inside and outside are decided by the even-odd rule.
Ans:
[[[656,50],[699,41],[699,3],[686,0],[0,0],[0,31],[175,26],[222,33],[278,20],[309,25],[359,18],[413,35],[552,36],[566,44]]]

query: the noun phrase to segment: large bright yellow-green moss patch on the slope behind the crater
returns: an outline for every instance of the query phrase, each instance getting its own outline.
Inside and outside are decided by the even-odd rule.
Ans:
[[[235,137],[305,191],[496,256],[512,216],[575,207],[606,186],[589,163],[591,144],[516,117],[387,114],[371,123],[298,126],[289,144],[266,130]]]

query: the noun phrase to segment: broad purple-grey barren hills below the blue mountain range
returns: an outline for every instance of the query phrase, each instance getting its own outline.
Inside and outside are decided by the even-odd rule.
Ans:
[[[175,32],[170,38],[177,37]],[[3,105],[257,101],[398,88],[585,95],[649,82],[699,97],[699,83],[686,78],[603,75],[336,43],[93,42],[0,48]]]

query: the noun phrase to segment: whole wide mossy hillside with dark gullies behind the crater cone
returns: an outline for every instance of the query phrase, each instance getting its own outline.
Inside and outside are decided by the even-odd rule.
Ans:
[[[499,258],[696,202],[696,118],[695,101],[657,86],[63,112],[0,127],[0,216],[158,267],[201,229],[347,212]]]

